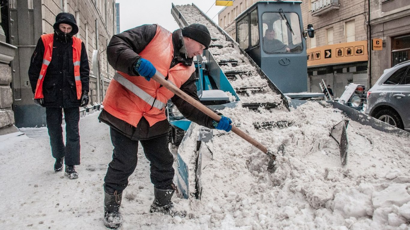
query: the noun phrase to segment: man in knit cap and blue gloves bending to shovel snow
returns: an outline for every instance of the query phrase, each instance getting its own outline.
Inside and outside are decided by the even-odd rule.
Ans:
[[[109,83],[99,120],[110,126],[114,146],[112,161],[104,178],[104,223],[119,228],[119,212],[128,177],[137,166],[138,144],[150,161],[150,178],[154,185],[154,201],[150,212],[185,216],[175,211],[171,197],[173,155],[168,149],[165,106],[169,99],[192,122],[210,129],[230,131],[231,120],[212,120],[178,95],[150,80],[159,72],[183,92],[199,101],[195,84],[193,58],[208,49],[210,33],[204,25],[191,24],[169,32],[159,25],[141,25],[116,34],[107,47],[108,62],[117,71]]]

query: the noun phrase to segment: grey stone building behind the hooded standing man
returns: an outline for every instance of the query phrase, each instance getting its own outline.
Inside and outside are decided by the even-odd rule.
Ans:
[[[16,56],[11,61],[15,125],[18,128],[46,125],[45,109],[33,102],[27,72],[38,39],[42,34],[53,33],[55,16],[61,12],[75,16],[79,27],[76,36],[84,42],[89,58],[90,102],[81,112],[85,114],[98,109],[114,76],[105,51],[116,33],[115,0],[8,0],[5,8],[6,40],[17,47]]]

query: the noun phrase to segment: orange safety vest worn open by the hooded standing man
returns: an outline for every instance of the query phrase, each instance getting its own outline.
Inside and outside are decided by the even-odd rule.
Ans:
[[[36,92],[34,99],[43,98],[43,81],[46,76],[48,65],[51,62],[52,44],[54,34],[41,35],[41,40],[44,44],[43,64],[41,65],[39,79],[37,80]],[[77,99],[81,98],[81,79],[80,79],[80,59],[81,59],[81,39],[73,37],[73,63],[74,63],[74,78],[77,89]]]

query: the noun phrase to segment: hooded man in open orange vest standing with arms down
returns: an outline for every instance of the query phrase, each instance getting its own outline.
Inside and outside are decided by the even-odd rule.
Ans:
[[[54,33],[43,34],[31,57],[28,75],[34,103],[46,107],[46,122],[54,171],[78,178],[75,165],[80,165],[79,106],[89,101],[89,63],[87,50],[80,38],[75,18],[59,13],[53,25]],[[63,140],[62,110],[66,122],[66,143]]]

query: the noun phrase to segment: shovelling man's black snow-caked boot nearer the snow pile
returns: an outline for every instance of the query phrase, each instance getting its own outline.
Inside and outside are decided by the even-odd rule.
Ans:
[[[185,217],[187,212],[173,210],[173,203],[171,201],[175,190],[161,190],[154,188],[154,202],[150,207],[150,212],[161,212],[171,216]]]

